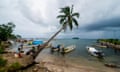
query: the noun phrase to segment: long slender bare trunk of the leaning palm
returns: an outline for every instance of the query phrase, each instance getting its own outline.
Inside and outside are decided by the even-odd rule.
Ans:
[[[38,54],[49,44],[51,40],[53,40],[62,30],[64,27],[60,28],[46,43],[44,43],[42,46],[38,48],[38,51],[34,55],[34,59],[38,56]]]

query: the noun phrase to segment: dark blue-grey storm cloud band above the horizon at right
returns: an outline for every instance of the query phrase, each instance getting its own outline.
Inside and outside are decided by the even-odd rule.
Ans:
[[[91,23],[85,27],[87,31],[105,31],[108,29],[120,29],[120,17],[104,19]]]

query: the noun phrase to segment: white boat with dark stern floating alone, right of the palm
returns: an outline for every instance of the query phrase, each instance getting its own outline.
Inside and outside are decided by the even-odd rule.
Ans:
[[[94,47],[87,46],[86,48],[87,48],[87,51],[95,57],[103,57],[104,56],[104,53],[102,51],[99,51],[99,50],[95,49]]]

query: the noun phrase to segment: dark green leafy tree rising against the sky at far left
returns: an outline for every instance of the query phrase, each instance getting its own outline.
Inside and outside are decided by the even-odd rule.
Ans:
[[[6,41],[13,36],[12,32],[15,25],[12,22],[0,25],[0,41]]]

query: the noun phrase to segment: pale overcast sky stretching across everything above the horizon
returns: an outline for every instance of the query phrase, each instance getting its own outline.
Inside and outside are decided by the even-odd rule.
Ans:
[[[0,24],[13,22],[15,34],[49,38],[59,28],[59,8],[74,5],[79,27],[57,38],[120,38],[120,0],[0,0]]]

